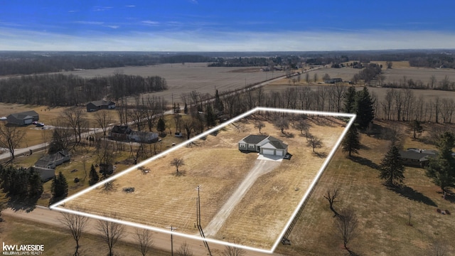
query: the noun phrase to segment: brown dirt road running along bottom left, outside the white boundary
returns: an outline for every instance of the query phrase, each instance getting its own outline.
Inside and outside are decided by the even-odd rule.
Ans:
[[[49,210],[43,206],[37,206],[35,209],[31,210],[30,212],[26,212],[26,210],[13,210],[11,208],[6,208],[1,212],[2,215],[11,216],[13,218],[21,218],[24,220],[30,220],[36,223],[43,223],[45,225],[55,226],[59,228],[63,228],[63,225],[60,223],[60,211],[57,210]],[[87,226],[85,228],[85,233],[90,233],[94,235],[100,235],[100,232],[97,230],[97,220],[89,219]],[[126,242],[136,243],[137,238],[135,235],[135,230],[133,227],[126,226],[125,231],[127,235],[122,238],[122,240]],[[68,234],[70,232],[68,231]],[[170,251],[171,249],[171,237],[166,233],[158,233],[152,231],[153,234],[153,247],[160,250],[167,250]],[[208,255],[208,250],[205,249],[203,242],[200,240],[192,240],[189,238],[183,238],[178,235],[173,235],[173,247],[174,251],[181,245],[183,242],[186,242],[191,250],[193,251],[193,255]],[[209,247],[212,255],[221,255],[221,252],[225,249],[224,245],[218,245],[214,243],[209,243]],[[264,254],[261,252],[254,252],[254,251],[247,251],[246,255],[252,256],[264,256],[269,254]]]

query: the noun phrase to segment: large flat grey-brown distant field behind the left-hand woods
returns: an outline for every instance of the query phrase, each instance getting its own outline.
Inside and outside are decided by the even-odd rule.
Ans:
[[[245,87],[256,82],[272,78],[272,72],[261,72],[257,68],[209,68],[207,63],[162,64],[141,67],[124,68],[101,68],[97,70],[81,70],[65,72],[63,74],[79,75],[82,78],[94,78],[96,76],[114,75],[122,72],[125,75],[154,76],[159,75],[166,79],[168,90],[154,92],[151,95],[164,97],[171,102],[183,102],[180,98],[193,90],[201,94],[210,93],[215,95],[215,90],[224,92]],[[245,72],[247,71],[247,72]],[[273,77],[285,75],[282,71],[275,71]]]

